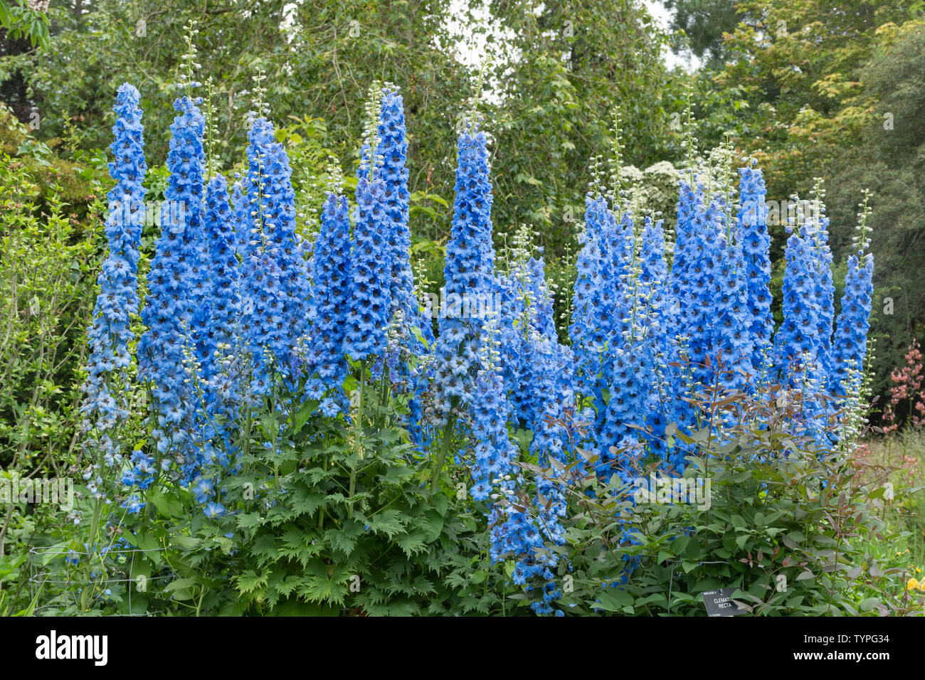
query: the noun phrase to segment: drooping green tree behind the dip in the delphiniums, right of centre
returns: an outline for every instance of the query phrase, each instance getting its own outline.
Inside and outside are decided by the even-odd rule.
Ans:
[[[510,232],[533,224],[559,255],[584,214],[589,158],[611,155],[615,107],[624,161],[647,167],[679,155],[671,113],[684,88],[662,61],[666,36],[635,0],[494,0],[489,8],[512,36],[489,79],[499,102],[488,129],[503,168],[495,212]]]

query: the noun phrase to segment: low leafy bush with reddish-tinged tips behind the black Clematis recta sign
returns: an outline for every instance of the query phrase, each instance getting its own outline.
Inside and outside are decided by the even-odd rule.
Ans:
[[[877,516],[884,489],[855,484],[844,455],[823,454],[781,426],[762,413],[722,438],[675,431],[698,445],[683,477],[699,480],[696,495],[604,485],[570,466],[568,543],[547,546],[562,557],[558,606],[697,616],[704,591],[734,587],[733,599],[757,616],[914,612],[900,570],[867,543],[896,538]]]

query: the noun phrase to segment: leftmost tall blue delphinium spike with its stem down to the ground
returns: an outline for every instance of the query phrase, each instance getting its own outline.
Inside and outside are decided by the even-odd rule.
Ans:
[[[115,185],[107,194],[105,220],[108,249],[97,278],[99,292],[87,333],[90,352],[80,407],[81,481],[86,496],[71,508],[75,539],[68,543],[67,555],[61,559],[56,549],[50,549],[43,551],[40,560],[41,568],[47,569],[51,558],[75,590],[74,600],[64,593],[56,605],[74,606],[79,612],[109,604],[111,592],[100,585],[97,576],[112,566],[105,556],[118,542],[120,521],[142,507],[137,493],[121,484],[123,469],[136,460],[130,429],[138,425],[132,414],[137,395],[132,317],[139,308],[137,274],[145,215],[142,183],[147,170],[139,100],[138,90],[129,83],[118,88],[115,139],[110,145],[115,160],[109,164]]]

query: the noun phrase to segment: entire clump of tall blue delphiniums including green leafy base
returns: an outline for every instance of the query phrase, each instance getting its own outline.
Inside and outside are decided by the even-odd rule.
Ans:
[[[192,613],[691,613],[697,584],[734,579],[756,613],[879,608],[838,593],[857,577],[833,575],[824,547],[862,559],[851,531],[878,529],[857,495],[860,514],[833,504],[863,427],[866,204],[834,323],[820,188],[810,216],[790,225],[774,333],[760,170],[746,160],[736,186],[728,143],[701,157],[688,110],[671,242],[621,175],[618,117],[611,158],[591,164],[566,345],[530,227],[496,257],[475,107],[458,130],[434,310],[411,260],[399,89],[371,86],[356,191],[347,195],[332,159],[309,244],[263,74],[246,167],[230,187],[220,173],[216,117],[193,93],[192,35],[141,312],[139,384],[151,394],[142,442],[120,429],[137,388],[129,319],[144,212],[129,85],[118,93],[110,195],[129,209],[106,226],[85,407],[100,451],[85,470],[99,496],[93,524],[156,547],[124,568],[174,578],[159,603]],[[716,484],[736,512],[645,502],[635,490],[649,474]],[[833,512],[832,531],[820,529]],[[774,595],[778,575],[799,581],[804,600]]]

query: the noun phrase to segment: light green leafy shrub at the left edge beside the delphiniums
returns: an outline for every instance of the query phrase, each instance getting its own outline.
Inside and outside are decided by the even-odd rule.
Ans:
[[[77,462],[96,234],[68,218],[57,185],[43,196],[22,162],[5,155],[0,165],[0,467],[16,476],[64,477]],[[15,503],[0,510],[0,556],[9,535],[17,543],[11,554],[28,548],[22,527],[30,519],[22,513],[31,510]]]

